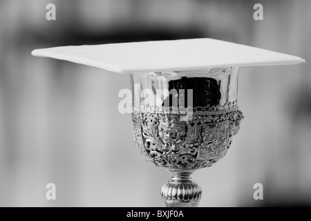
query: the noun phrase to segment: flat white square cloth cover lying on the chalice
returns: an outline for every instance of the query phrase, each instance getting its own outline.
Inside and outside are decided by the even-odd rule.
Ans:
[[[195,70],[227,66],[299,64],[300,57],[216,39],[142,41],[37,49],[32,55],[104,68],[115,73]]]

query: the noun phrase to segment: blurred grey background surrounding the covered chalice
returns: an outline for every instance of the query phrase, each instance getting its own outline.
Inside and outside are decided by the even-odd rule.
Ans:
[[[245,118],[224,159],[194,173],[200,206],[311,206],[310,12],[308,0],[0,0],[0,206],[162,206],[170,174],[144,161],[117,109],[129,76],[30,52],[197,37],[307,61],[241,68]],[[46,200],[50,182],[57,200]]]

